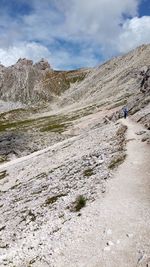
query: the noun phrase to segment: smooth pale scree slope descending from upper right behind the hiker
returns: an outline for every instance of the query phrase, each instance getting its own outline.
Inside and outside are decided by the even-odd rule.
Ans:
[[[114,58],[92,70],[79,85],[72,86],[62,96],[60,104],[81,102],[112,104],[139,93],[143,76],[150,67],[150,45]],[[150,85],[149,85],[150,87]]]

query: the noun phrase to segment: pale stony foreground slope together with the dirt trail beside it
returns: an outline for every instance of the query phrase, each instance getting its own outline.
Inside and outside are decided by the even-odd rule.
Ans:
[[[147,266],[149,145],[143,127],[126,124],[127,159],[113,177],[118,122],[1,165],[0,266]],[[76,213],[78,194],[87,204]]]

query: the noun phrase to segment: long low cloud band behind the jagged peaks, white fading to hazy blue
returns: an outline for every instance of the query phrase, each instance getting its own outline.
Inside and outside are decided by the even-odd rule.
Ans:
[[[13,65],[19,58],[32,59],[34,62],[46,58],[55,69],[68,69],[71,66],[93,66],[98,60],[92,49],[80,51],[80,55],[70,54],[64,49],[54,50],[53,54],[43,45],[36,43],[19,43],[7,49],[0,48],[0,63],[4,66]]]

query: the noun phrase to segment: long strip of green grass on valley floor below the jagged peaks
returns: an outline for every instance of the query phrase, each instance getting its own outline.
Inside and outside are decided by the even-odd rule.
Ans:
[[[75,112],[69,114],[57,114],[51,116],[44,116],[39,118],[28,118],[25,111],[26,118],[23,119],[22,110],[13,111],[14,116],[0,117],[0,132],[11,131],[24,131],[26,129],[35,129],[41,132],[64,132],[75,120],[92,114],[97,108],[97,105],[89,105]],[[21,112],[21,113],[20,113]],[[6,118],[5,118],[6,117]],[[5,119],[4,119],[5,118]]]

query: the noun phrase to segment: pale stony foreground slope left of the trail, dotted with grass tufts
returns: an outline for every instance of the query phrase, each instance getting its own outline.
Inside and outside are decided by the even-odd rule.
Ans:
[[[6,170],[0,188],[1,264],[28,266],[39,255],[42,264],[45,257],[53,261],[66,223],[78,220],[79,213],[70,211],[76,196],[84,195],[88,205],[105,192],[112,154],[123,153],[122,136],[116,138],[119,125],[97,127],[99,116],[89,121],[89,132],[80,125],[80,135],[0,166],[1,174]],[[57,201],[46,204],[53,196]]]

